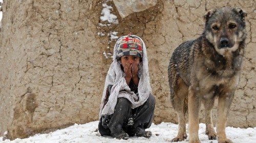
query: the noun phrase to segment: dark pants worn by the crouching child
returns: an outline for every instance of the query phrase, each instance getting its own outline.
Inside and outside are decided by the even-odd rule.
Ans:
[[[118,98],[114,113],[109,116],[101,117],[99,121],[99,133],[111,135],[123,129],[129,134],[133,129],[140,127],[147,129],[151,126],[154,117],[155,97],[150,94],[147,101],[132,109],[131,102],[126,98]],[[127,125],[130,117],[134,118],[134,125]]]

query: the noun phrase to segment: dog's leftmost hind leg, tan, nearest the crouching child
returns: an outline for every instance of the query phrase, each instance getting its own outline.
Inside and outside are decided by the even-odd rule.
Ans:
[[[187,110],[188,87],[181,78],[178,77],[177,86],[174,90],[173,106],[178,116],[179,131],[177,137],[172,142],[182,141],[187,138],[185,113]]]

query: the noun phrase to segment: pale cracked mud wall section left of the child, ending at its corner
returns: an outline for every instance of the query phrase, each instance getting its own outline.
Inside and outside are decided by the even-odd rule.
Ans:
[[[95,4],[5,1],[1,135],[8,130],[9,138],[23,138],[98,119],[105,77]]]

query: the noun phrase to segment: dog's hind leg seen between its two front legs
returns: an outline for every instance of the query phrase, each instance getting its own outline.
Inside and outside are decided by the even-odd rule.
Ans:
[[[212,124],[211,121],[211,109],[214,107],[214,97],[211,99],[203,99],[203,104],[205,108],[205,125],[206,125],[206,130],[205,134],[208,135],[208,138],[210,140],[216,139],[217,134],[214,130],[214,124]]]

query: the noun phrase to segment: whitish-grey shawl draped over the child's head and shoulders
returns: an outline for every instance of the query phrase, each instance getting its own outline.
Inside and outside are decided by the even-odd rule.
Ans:
[[[133,37],[139,38],[135,35]],[[121,39],[120,37],[118,41]],[[139,85],[138,85],[138,95],[134,92],[131,92],[129,85],[127,85],[125,81],[125,73],[122,71],[120,63],[116,59],[117,55],[117,44],[114,47],[113,53],[113,62],[109,68],[108,74],[106,75],[105,87],[102,94],[101,104],[99,108],[99,118],[102,115],[111,115],[114,113],[115,106],[117,104],[117,98],[124,97],[131,101],[131,107],[134,109],[140,105],[142,105],[152,93],[150,86],[150,76],[148,73],[148,62],[147,62],[147,54],[146,54],[146,46],[142,41],[142,63],[139,66],[138,77]],[[108,85],[113,85],[111,89],[111,93],[109,95],[109,100],[104,106],[106,89]],[[123,91],[124,90],[124,91]]]

